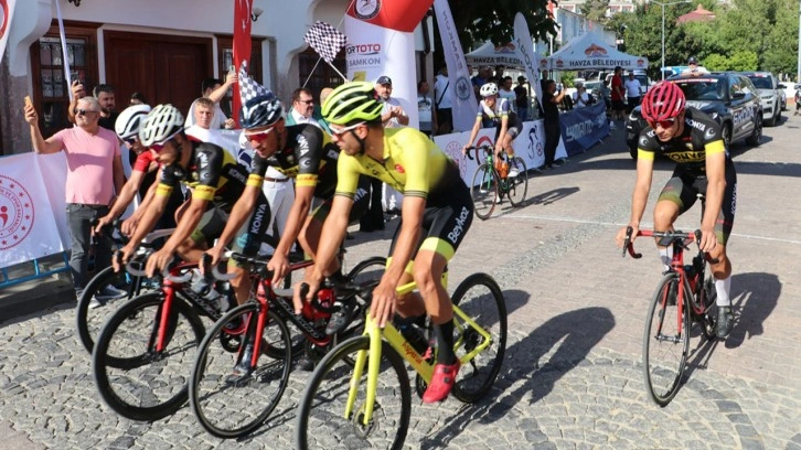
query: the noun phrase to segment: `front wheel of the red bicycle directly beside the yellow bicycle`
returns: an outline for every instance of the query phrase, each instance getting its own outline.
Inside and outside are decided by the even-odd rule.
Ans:
[[[214,324],[197,350],[190,377],[190,405],[203,428],[218,438],[236,438],[260,426],[278,406],[289,383],[289,329],[273,311],[267,313],[257,366],[234,374],[246,336],[255,335],[259,309],[258,303],[248,302],[231,310]],[[232,339],[239,343],[233,352],[226,344]],[[274,350],[269,355],[268,349]],[[282,350],[280,355],[277,349]]]

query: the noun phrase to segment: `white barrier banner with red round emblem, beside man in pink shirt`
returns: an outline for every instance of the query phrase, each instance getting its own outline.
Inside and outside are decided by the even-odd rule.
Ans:
[[[64,250],[56,210],[47,199],[33,153],[2,158],[0,164],[0,268]],[[61,189],[64,196],[64,189]],[[65,216],[61,210],[61,216]],[[65,219],[63,221],[65,222]]]

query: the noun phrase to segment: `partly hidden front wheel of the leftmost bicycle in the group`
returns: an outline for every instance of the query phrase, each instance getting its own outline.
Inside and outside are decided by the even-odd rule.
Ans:
[[[78,340],[84,349],[89,352],[89,355],[92,355],[92,350],[95,347],[95,341],[100,333],[103,323],[114,313],[117,307],[139,296],[141,281],[142,279],[138,277],[130,277],[125,271],[115,272],[113,267],[107,267],[95,275],[86,285],[78,299],[78,304],[75,307],[75,325]],[[126,290],[127,296],[98,300],[98,307],[92,308],[92,299],[109,285]]]

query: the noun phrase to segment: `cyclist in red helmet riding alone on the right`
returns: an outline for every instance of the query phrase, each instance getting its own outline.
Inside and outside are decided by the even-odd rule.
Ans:
[[[701,248],[717,262],[712,264],[717,292],[717,335],[725,338],[731,331],[733,313],[729,297],[731,262],[726,256],[726,244],[731,233],[737,199],[737,173],[720,132],[720,126],[706,114],[686,106],[682,89],[670,82],[653,87],[642,100],[642,117],[648,121],[638,140],[637,182],[631,199],[631,218],[627,226],[634,229],[633,237],[645,212],[653,161],[658,154],[676,162],[653,211],[653,227],[664,232],[690,210],[698,194],[706,197],[701,219]],[[617,235],[623,245],[626,226]],[[671,247],[658,245],[665,270],[671,270]]]

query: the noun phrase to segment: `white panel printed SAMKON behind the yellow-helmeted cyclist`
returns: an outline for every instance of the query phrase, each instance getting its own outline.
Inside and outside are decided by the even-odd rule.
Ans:
[[[392,79],[392,98],[400,103],[409,117],[409,127],[419,128],[414,33],[345,15],[345,34],[348,78],[375,83],[380,76],[388,76]]]

